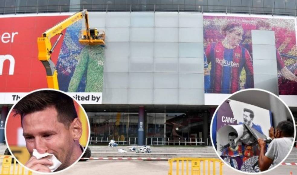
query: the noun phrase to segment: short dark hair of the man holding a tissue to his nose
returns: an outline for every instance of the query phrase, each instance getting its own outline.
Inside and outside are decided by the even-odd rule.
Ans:
[[[64,93],[53,90],[33,92],[22,98],[13,108],[13,112],[15,112],[13,116],[21,115],[23,126],[24,115],[45,110],[47,107],[54,107],[57,110],[58,121],[66,127],[69,127],[77,117],[73,99]]]

